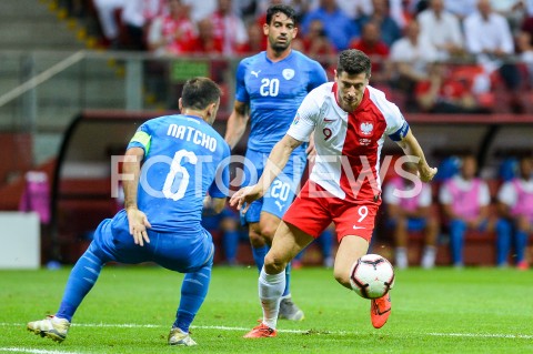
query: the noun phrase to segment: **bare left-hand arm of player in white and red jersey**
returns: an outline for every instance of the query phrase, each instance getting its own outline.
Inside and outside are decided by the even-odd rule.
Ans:
[[[241,210],[244,203],[250,205],[251,202],[263,196],[272,182],[285,166],[294,149],[300,146],[302,143],[303,141],[285,134],[283,139],[280,140],[272,149],[272,152],[269,155],[269,161],[264,166],[263,174],[259,179],[258,183],[237,191],[235,194],[233,194],[230,199],[230,205],[237,205],[237,209]],[[248,209],[248,205],[244,211]]]

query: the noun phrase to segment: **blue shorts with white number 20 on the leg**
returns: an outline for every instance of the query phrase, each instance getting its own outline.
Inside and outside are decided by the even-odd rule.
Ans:
[[[250,185],[258,182],[263,173],[268,158],[268,153],[250,149],[247,151],[244,182],[242,185]],[[270,185],[266,194],[260,200],[254,201],[245,214],[241,212],[241,223],[244,225],[247,223],[259,222],[261,212],[266,212],[281,219],[294,200],[296,189],[305,170],[305,154],[292,154],[282,173],[280,173]]]

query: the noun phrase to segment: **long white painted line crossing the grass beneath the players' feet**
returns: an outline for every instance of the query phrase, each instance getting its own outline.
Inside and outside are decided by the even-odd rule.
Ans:
[[[7,326],[24,326],[22,323],[7,323],[0,322],[0,327]],[[123,324],[109,324],[109,323],[73,323],[72,326],[77,327],[112,327],[112,328],[165,328],[167,326],[157,325],[157,324],[135,324],[135,323],[123,323]],[[220,330],[220,331],[249,331],[249,327],[230,327],[230,326],[194,326],[191,328],[199,330]],[[313,330],[278,330],[280,333],[313,333]],[[316,334],[332,334],[332,335],[358,335],[361,333],[350,332],[350,331],[318,331]],[[439,332],[429,332],[429,333],[416,333],[419,335],[428,336],[449,336],[449,337],[474,337],[474,338],[507,338],[507,340],[533,340],[531,334],[503,334],[503,333],[439,333]],[[58,352],[66,353],[66,352]]]

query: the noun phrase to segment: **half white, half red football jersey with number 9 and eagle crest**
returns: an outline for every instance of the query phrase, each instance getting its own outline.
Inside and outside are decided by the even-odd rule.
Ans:
[[[313,130],[316,159],[310,180],[340,199],[378,202],[385,135],[399,141],[409,131],[399,108],[369,85],[355,112],[348,113],[338,104],[336,83],[328,82],[303,100],[288,134],[309,141]]]

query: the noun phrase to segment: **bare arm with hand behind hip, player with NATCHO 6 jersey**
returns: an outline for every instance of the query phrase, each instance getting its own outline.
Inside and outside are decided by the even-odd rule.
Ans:
[[[141,161],[144,158],[144,150],[141,148],[131,148],[125,152],[125,161],[122,171],[130,179],[123,180],[124,188],[124,209],[128,213],[128,222],[130,224],[130,234],[133,236],[135,244],[144,245],[150,243],[147,227],[151,227],[147,215],[137,206],[137,191],[139,188],[139,176],[141,174]]]

